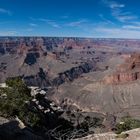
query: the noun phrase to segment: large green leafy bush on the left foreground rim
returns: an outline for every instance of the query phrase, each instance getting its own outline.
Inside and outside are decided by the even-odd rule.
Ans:
[[[6,118],[18,116],[25,124],[37,126],[40,118],[28,107],[30,89],[19,77],[7,79],[6,84],[7,88],[0,88],[0,115]]]

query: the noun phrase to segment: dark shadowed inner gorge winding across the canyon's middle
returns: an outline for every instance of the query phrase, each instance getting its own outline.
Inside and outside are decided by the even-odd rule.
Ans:
[[[46,71],[44,71],[42,68],[39,68],[37,75],[23,76],[23,79],[28,86],[54,87],[60,86],[65,82],[71,82],[74,79],[80,77],[82,74],[88,73],[91,70],[95,70],[95,65],[94,63],[87,62],[59,73],[56,78],[51,79]]]

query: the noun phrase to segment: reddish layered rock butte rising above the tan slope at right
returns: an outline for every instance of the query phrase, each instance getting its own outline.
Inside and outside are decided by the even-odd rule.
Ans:
[[[125,63],[118,66],[116,72],[105,76],[106,84],[127,83],[140,79],[140,55],[132,54]]]

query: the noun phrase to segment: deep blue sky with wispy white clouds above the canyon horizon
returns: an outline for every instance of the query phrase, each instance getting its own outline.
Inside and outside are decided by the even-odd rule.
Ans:
[[[140,0],[0,0],[0,36],[140,38]]]

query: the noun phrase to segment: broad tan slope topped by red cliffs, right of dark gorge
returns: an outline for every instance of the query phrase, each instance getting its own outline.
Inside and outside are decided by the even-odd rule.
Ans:
[[[59,86],[52,98],[60,104],[67,101],[83,111],[140,118],[139,56],[137,53],[112,57],[98,64],[98,70]]]

